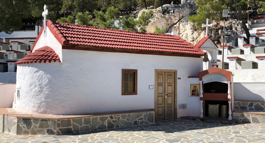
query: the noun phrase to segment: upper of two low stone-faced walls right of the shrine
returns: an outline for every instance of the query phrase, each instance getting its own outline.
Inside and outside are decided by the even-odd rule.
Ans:
[[[265,102],[235,101],[234,109],[265,112],[264,105],[265,105]]]

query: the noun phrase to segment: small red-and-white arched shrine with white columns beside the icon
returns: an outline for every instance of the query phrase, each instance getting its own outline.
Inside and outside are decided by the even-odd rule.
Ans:
[[[199,72],[199,83],[201,102],[200,117],[212,117],[210,116],[211,112],[217,113],[215,117],[221,117],[222,114],[227,115],[228,113],[228,120],[232,120],[234,107],[233,73],[212,67]],[[218,111],[212,111],[210,106],[214,104],[226,106],[223,109],[227,109],[227,111],[223,110],[221,106],[217,107]]]

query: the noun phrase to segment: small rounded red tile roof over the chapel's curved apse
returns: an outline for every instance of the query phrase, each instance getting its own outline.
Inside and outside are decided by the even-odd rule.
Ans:
[[[52,62],[52,61],[60,61],[58,54],[55,53],[55,51],[49,47],[44,46],[42,48],[39,48],[35,50],[33,53],[30,53],[26,55],[24,58],[17,61],[15,64],[28,64],[28,63],[41,63],[41,62]]]

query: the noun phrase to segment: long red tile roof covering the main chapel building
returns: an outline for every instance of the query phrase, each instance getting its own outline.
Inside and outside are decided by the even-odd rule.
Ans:
[[[171,52],[195,56],[205,54],[176,35],[139,33],[77,24],[53,23],[52,21],[47,21],[47,27],[56,39],[66,46],[70,44],[92,48]]]

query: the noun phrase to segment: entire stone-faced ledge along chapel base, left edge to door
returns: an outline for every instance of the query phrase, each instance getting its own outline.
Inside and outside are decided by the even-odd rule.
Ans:
[[[0,116],[0,122],[2,116]],[[61,135],[153,124],[154,122],[154,111],[73,119],[35,119],[4,116],[4,132],[19,135]]]

